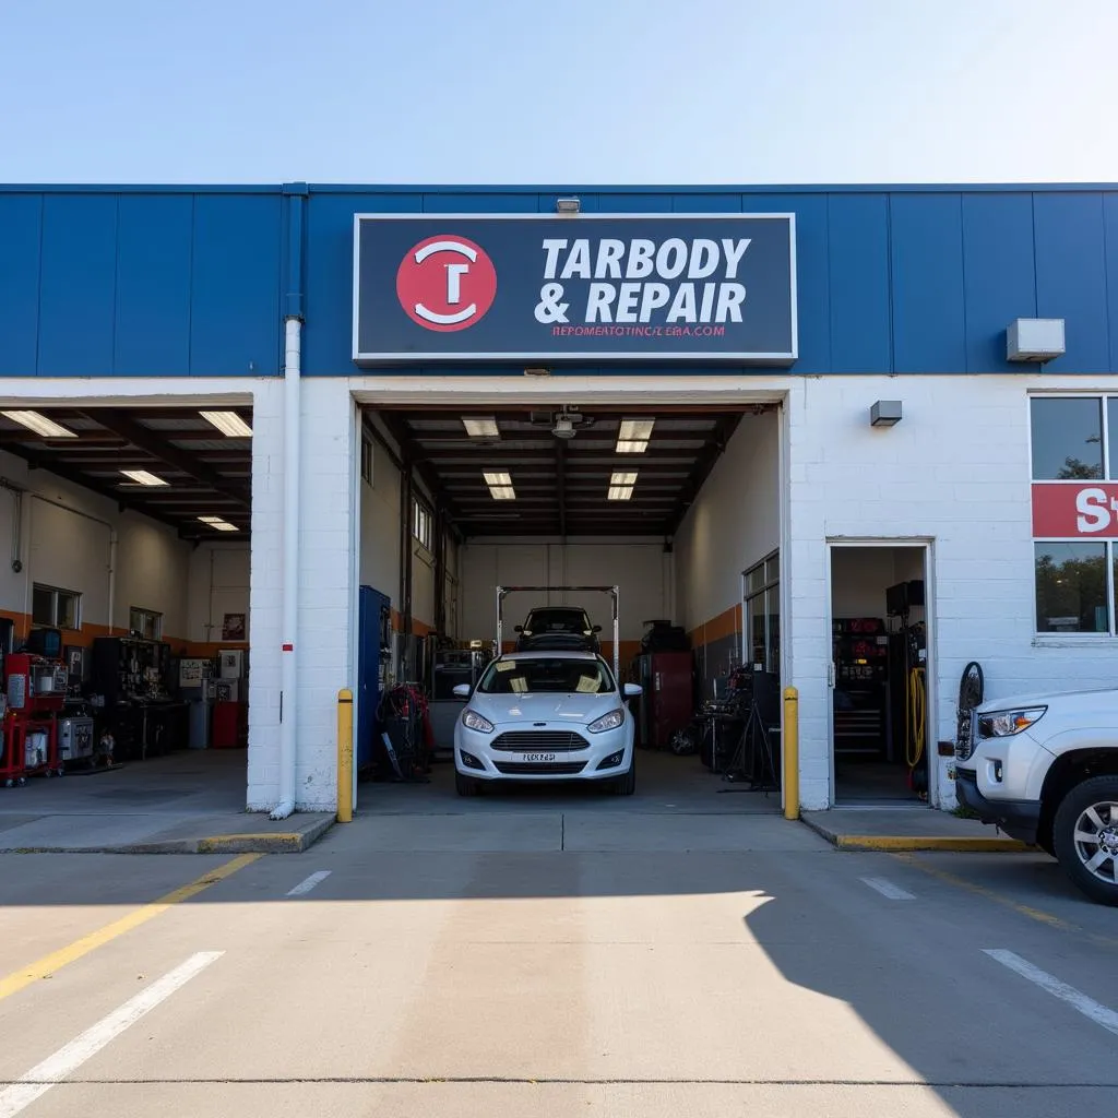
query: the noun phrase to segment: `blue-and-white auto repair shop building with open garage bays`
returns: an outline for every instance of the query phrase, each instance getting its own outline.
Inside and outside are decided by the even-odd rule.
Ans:
[[[394,656],[617,585],[623,669],[798,689],[806,807],[951,806],[969,662],[1114,683],[1118,188],[9,186],[0,244],[0,613],[246,653],[252,809],[333,807],[362,585]]]

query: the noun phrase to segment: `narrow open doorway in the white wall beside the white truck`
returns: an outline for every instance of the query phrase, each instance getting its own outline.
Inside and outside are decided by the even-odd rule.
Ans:
[[[831,544],[836,803],[929,798],[928,550],[891,541]]]

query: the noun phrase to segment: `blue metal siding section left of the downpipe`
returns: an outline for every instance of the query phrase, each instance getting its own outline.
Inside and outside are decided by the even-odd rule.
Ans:
[[[0,193],[0,376],[274,376],[277,191]]]

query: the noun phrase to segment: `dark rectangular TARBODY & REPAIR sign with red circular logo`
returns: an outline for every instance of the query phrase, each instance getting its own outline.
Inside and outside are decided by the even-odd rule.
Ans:
[[[359,214],[353,360],[796,359],[792,214]]]

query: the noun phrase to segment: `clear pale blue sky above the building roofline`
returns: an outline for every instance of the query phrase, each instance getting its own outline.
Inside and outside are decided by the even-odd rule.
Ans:
[[[1116,181],[1118,0],[8,0],[0,181]]]

